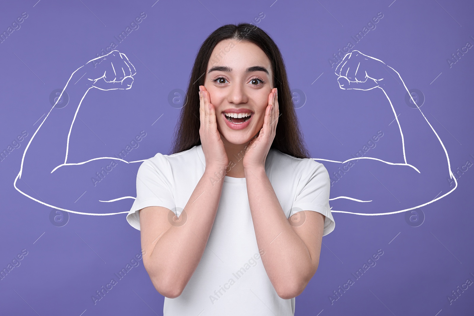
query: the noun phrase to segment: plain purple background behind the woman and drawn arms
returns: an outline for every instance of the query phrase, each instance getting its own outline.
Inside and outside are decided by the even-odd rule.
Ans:
[[[425,103],[421,110],[443,141],[451,170],[456,172],[467,160],[474,162],[474,51],[469,49],[452,67],[447,58],[467,41],[474,44],[470,37],[474,36],[473,9],[470,1],[446,0],[271,0],[225,4],[209,0],[33,0],[3,4],[0,32],[6,31],[22,12],[27,12],[28,18],[0,44],[0,150],[6,149],[22,131],[26,130],[28,136],[0,163],[0,268],[6,268],[22,249],[27,249],[28,254],[0,281],[1,314],[163,314],[164,298],[154,289],[142,261],[96,305],[91,299],[140,252],[139,231],[128,225],[126,214],[70,214],[67,225],[56,227],[49,219],[53,208],[28,199],[13,187],[27,142],[44,117],[37,121],[51,108],[50,93],[64,88],[71,73],[95,58],[111,41],[117,43],[114,36],[141,12],[146,13],[146,18],[117,47],[137,69],[133,87],[94,89],[87,94],[78,113],[82,122],[76,119],[74,123],[68,162],[113,156],[142,130],[147,136],[129,153],[129,160],[169,153],[180,110],[170,105],[168,94],[174,89],[186,90],[199,45],[222,24],[255,23],[254,18],[263,12],[264,18],[257,26],[280,47],[291,88],[301,90],[300,97],[306,98],[304,106],[295,107],[312,157],[339,161],[352,158],[351,154],[382,130],[384,136],[369,153],[400,163],[400,133],[394,123],[388,125],[393,114],[386,111],[387,99],[378,89],[339,89],[334,68],[328,63],[339,48],[353,41],[351,36],[382,12],[376,28],[354,49],[387,63],[400,73],[409,89],[422,91]],[[300,99],[295,102],[298,104]],[[68,104],[66,108],[72,106]],[[64,121],[67,124],[70,121]],[[426,126],[403,129],[407,139],[408,135],[416,137],[425,131]],[[41,146],[37,148],[40,150]],[[407,159],[418,157],[417,162],[423,162],[425,155],[443,158],[444,153],[427,153],[427,148],[421,146],[410,154],[407,151]],[[63,152],[50,154],[64,157]],[[331,187],[330,198],[351,193],[358,196],[363,191],[383,196],[382,203],[365,213],[391,212],[397,210],[398,203],[410,207],[417,197],[426,196],[429,200],[440,191],[445,194],[452,189],[444,174],[446,167],[439,161],[426,159],[426,163],[419,163],[425,174],[433,172],[441,180],[415,187],[411,196],[401,189],[414,180],[396,169],[401,167],[387,169],[387,165],[373,160],[359,161],[354,167],[357,171],[351,169],[350,177],[343,177]],[[323,163],[330,174],[338,168],[335,163]],[[40,195],[54,204],[62,199],[74,201],[86,191],[74,204],[74,210],[128,211],[132,199],[113,206],[104,203],[108,205],[100,209],[97,203],[90,204],[98,198],[135,196],[135,172],[140,163],[119,164],[114,168],[119,171],[111,172],[94,187],[90,178],[107,164],[102,161],[90,167],[86,164],[82,169],[64,168],[68,181],[52,186],[55,194],[48,195],[47,187]],[[466,279],[474,280],[471,169],[460,173],[458,187],[451,194],[421,208],[425,217],[421,226],[410,226],[404,212],[385,216],[334,212],[336,229],[323,238],[319,269],[296,298],[296,315],[473,315],[473,286],[451,305],[447,299]],[[374,182],[368,171],[381,182]],[[27,185],[35,190],[35,183]],[[406,199],[397,202],[394,196]],[[342,200],[330,204],[333,210],[360,211]],[[355,280],[351,273],[378,249],[384,253],[376,266]],[[331,304],[329,296],[349,278],[355,284]]]

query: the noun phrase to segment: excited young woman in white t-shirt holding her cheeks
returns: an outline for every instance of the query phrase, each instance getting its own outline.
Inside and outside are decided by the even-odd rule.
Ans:
[[[127,216],[164,316],[294,315],[335,226],[328,172],[298,126],[270,36],[245,23],[215,30],[173,154],[142,163]]]

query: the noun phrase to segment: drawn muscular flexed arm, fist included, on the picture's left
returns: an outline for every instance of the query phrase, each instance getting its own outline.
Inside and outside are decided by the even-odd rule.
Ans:
[[[113,203],[100,202],[100,199],[94,196],[94,193],[103,188],[83,194],[81,203],[76,203],[76,200],[82,192],[90,190],[91,176],[100,171],[101,167],[108,165],[110,161],[128,162],[116,157],[100,157],[87,162],[70,162],[68,159],[73,123],[87,92],[92,88],[128,90],[132,87],[136,70],[125,54],[112,51],[100,58],[100,63],[96,62],[94,65],[93,61],[99,59],[95,58],[72,73],[56,104],[41,121],[25,148],[20,171],[13,185],[20,193],[38,203],[77,214],[127,213],[104,213],[106,205]],[[55,107],[64,91],[69,95],[69,106]],[[134,177],[131,173],[130,179],[132,178]],[[131,181],[134,183],[133,179]],[[120,190],[123,191],[123,183],[117,181],[109,181],[107,186],[109,190],[117,191],[117,194],[120,194]],[[83,209],[84,205],[87,205],[87,209]]]

